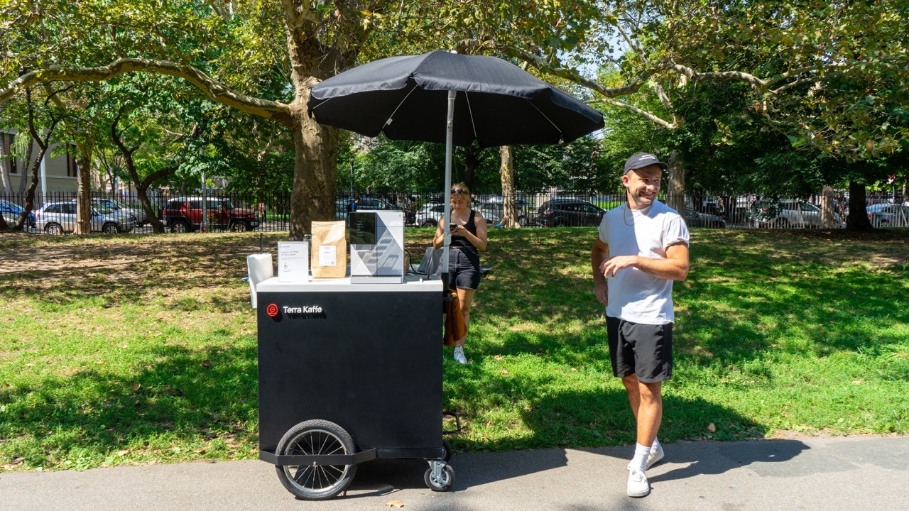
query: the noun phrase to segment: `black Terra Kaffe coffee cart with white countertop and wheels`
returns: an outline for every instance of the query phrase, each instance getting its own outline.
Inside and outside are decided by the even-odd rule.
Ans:
[[[442,282],[350,278],[257,286],[259,457],[295,496],[321,500],[375,458],[422,458],[454,485],[443,439]]]

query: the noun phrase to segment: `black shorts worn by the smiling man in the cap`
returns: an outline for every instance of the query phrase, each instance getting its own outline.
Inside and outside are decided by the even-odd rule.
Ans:
[[[645,325],[606,316],[613,375],[637,375],[644,383],[673,376],[673,324]]]

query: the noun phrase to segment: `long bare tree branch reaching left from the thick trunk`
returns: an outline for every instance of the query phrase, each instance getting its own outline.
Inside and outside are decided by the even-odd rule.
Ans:
[[[183,78],[198,87],[199,90],[217,103],[243,110],[247,114],[274,119],[283,125],[292,125],[293,120],[290,115],[289,105],[236,93],[192,65],[180,65],[174,62],[145,58],[119,58],[110,65],[101,67],[52,65],[47,69],[35,70],[19,76],[5,88],[0,89],[0,103],[4,103],[19,90],[36,84],[47,82],[100,82],[125,73],[143,72]]]

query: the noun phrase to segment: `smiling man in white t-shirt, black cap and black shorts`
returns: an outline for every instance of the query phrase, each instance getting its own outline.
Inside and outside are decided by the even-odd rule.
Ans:
[[[688,227],[656,200],[666,165],[638,153],[625,162],[627,202],[603,216],[591,251],[594,295],[606,306],[614,376],[622,378],[637,421],[628,464],[628,496],[646,496],[644,471],[663,456],[656,433],[663,418],[662,385],[672,376],[673,281],[688,276]]]

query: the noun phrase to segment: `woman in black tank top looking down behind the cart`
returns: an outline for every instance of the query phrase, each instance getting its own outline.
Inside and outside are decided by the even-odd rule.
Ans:
[[[435,226],[433,246],[441,248],[445,243],[445,229],[451,229],[452,241],[448,246],[448,282],[457,291],[464,325],[470,328],[470,306],[474,293],[480,285],[480,252],[486,249],[486,220],[479,212],[470,208],[470,190],[464,183],[452,186],[452,216],[439,219]],[[454,360],[466,364],[464,342],[467,335],[454,343]]]

